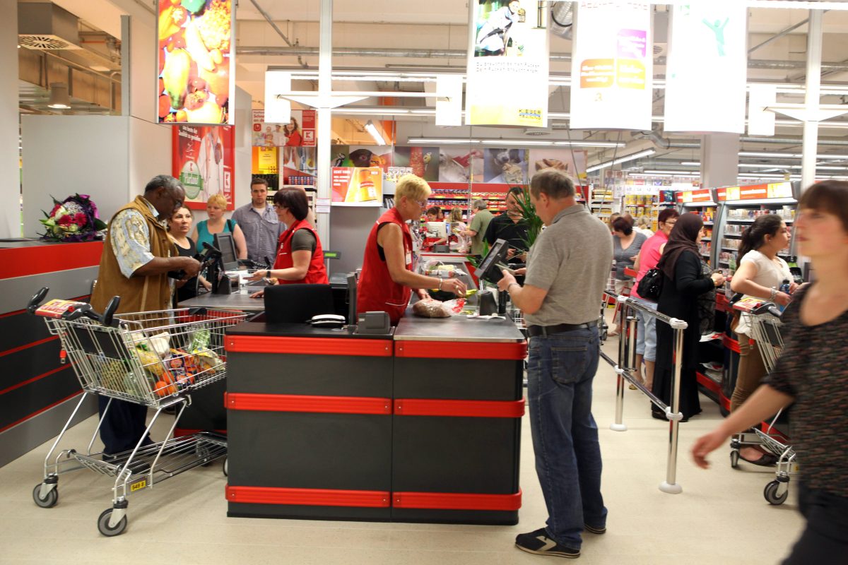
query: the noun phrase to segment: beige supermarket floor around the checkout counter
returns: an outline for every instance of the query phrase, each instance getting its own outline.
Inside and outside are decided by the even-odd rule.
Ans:
[[[605,346],[614,355],[616,341]],[[650,418],[648,402],[627,391],[627,432],[609,429],[615,374],[605,363],[595,379],[594,414],[604,455],[606,535],[586,535],[579,562],[601,565],[758,565],[779,562],[801,530],[794,493],[783,506],[762,497],[770,470],[745,463],[732,469],[728,450],[713,468],[689,461],[689,446],[721,418],[715,403],[681,425],[680,495],[657,489],[665,478],[667,424]],[[525,417],[526,418],[526,417]],[[89,419],[72,429],[67,446],[81,447]],[[36,507],[31,490],[41,479],[49,444],[0,468],[0,563],[344,563],[474,565],[532,563],[515,535],[544,524],[544,501],[533,470],[529,423],[522,427],[521,522],[513,527],[414,523],[312,522],[227,518],[220,465],[198,468],[130,497],[124,535],[104,538],[96,519],[110,507],[109,479],[79,471],[60,478],[59,504]],[[548,560],[550,561],[550,559]],[[546,561],[545,561],[546,562]]]

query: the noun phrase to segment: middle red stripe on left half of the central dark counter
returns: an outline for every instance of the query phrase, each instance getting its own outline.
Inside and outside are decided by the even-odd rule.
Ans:
[[[331,414],[391,414],[391,398],[368,396],[268,395],[228,392],[224,396],[228,410],[263,412],[310,412]]]

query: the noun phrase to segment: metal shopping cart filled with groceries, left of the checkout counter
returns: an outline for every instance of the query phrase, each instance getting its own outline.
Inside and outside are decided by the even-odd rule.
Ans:
[[[224,457],[226,438],[197,433],[174,438],[176,422],[191,403],[191,392],[226,377],[224,330],[242,322],[241,312],[205,309],[172,309],[146,313],[113,314],[115,296],[103,314],[84,302],[52,300],[39,306],[47,288],[33,296],[28,310],[45,317],[47,329],[59,336],[62,363],[70,360],[84,394],[64,424],[44,459],[44,479],[32,491],[36,505],[55,506],[59,501],[59,474],[89,468],[114,477],[112,507],[98,517],[101,534],[120,535],[127,525],[126,496],[152,489],[165,479]],[[168,407],[176,418],[164,441],[115,454],[92,452],[100,424],[85,452],[64,449],[59,442],[89,395],[155,408],[142,438],[147,438],[159,415]]]

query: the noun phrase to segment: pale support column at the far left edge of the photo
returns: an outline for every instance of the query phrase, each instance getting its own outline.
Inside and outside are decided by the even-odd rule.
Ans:
[[[0,237],[20,237],[18,166],[18,3],[3,3],[0,18]]]

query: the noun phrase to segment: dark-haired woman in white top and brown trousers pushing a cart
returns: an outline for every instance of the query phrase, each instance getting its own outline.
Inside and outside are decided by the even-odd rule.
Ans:
[[[789,265],[778,257],[778,252],[789,245],[789,230],[783,219],[776,214],[765,214],[757,218],[742,233],[739,246],[739,269],[736,269],[730,288],[745,296],[755,296],[780,306],[786,306],[791,300],[789,294],[795,291],[795,282],[789,272]],[[789,294],[780,291],[784,280],[790,281]],[[756,343],[750,340],[748,315],[739,316],[734,328],[739,339],[739,371],[736,376],[734,395],[730,400],[730,410],[734,411],[756,390],[760,380],[766,375],[765,365]],[[743,447],[739,457],[757,465],[771,465],[776,458],[756,447]]]

